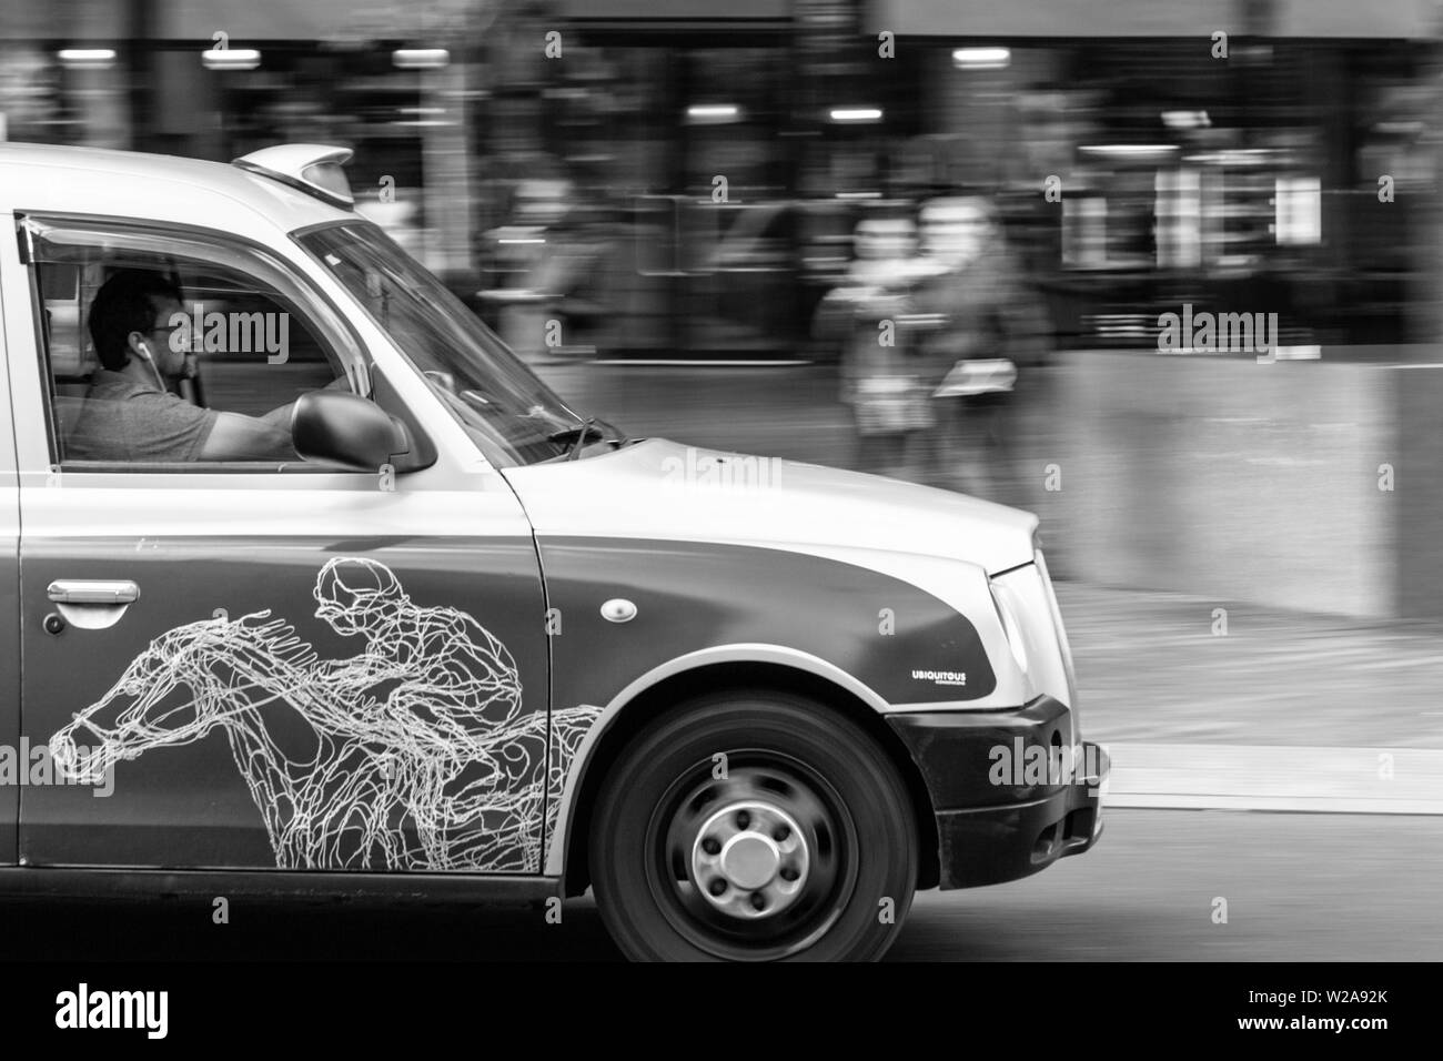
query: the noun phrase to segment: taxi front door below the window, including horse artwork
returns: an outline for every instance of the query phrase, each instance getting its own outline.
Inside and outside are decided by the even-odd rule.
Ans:
[[[535,554],[514,518],[486,518],[475,498],[338,491],[328,534],[313,495],[284,498],[294,523],[276,528],[287,521],[248,520],[234,495],[189,488],[176,501],[224,512],[225,533],[137,534],[120,523],[75,537],[48,530],[68,523],[65,502],[91,494],[79,502],[88,504],[98,491],[51,494],[59,504],[48,512],[38,510],[51,498],[27,498],[33,523],[22,538],[22,736],[30,746],[65,735],[104,748],[98,767],[113,777],[94,791],[25,791],[29,865],[538,869],[548,663]],[[439,530],[446,524],[449,534]],[[398,592],[358,602],[371,625],[349,632],[323,615],[322,572],[362,585],[390,576]],[[52,635],[42,622],[55,608],[45,595],[53,579],[126,579],[140,599],[111,628],[71,624]],[[277,663],[296,654],[315,663]],[[123,686],[130,677],[143,693]],[[175,689],[156,699],[166,683]],[[504,749],[468,742],[473,728],[459,712],[478,687],[498,697],[488,717],[515,715]],[[329,699],[329,710],[302,697]],[[443,706],[456,713],[446,725],[413,717]],[[338,712],[345,728],[332,722]],[[504,811],[462,820],[449,808],[466,782],[463,756],[485,759],[478,784],[504,772]],[[388,782],[413,778],[424,784],[410,793],[427,803],[385,820]],[[105,788],[108,798],[95,798]]]

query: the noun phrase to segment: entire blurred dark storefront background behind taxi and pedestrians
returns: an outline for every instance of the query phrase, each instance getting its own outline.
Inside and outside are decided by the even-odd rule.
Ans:
[[[1437,332],[1414,0],[6,0],[0,134],[355,147],[362,209],[528,351],[821,355],[869,209],[996,193],[1061,346],[1277,312]],[[1227,55],[1218,55],[1218,35]],[[883,36],[887,40],[883,40]],[[1380,179],[1388,179],[1388,201]],[[1052,195],[1049,195],[1052,189]]]

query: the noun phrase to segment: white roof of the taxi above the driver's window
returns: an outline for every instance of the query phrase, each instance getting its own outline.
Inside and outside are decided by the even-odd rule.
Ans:
[[[219,162],[0,143],[0,212],[17,211],[141,218],[263,243],[277,228],[356,219],[280,180]]]

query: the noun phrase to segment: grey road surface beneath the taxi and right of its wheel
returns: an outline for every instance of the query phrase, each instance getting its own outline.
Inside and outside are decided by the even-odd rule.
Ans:
[[[1098,846],[1007,885],[918,898],[913,961],[1439,960],[1443,817],[1115,810]],[[1216,899],[1227,924],[1216,924]],[[0,960],[494,960],[619,956],[589,896],[541,909],[234,899],[0,905]]]

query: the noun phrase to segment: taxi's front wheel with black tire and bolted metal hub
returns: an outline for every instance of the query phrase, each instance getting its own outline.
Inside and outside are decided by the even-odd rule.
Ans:
[[[911,800],[886,754],[786,694],[706,696],[646,726],[608,772],[589,840],[602,920],[632,960],[876,960],[916,888]]]

